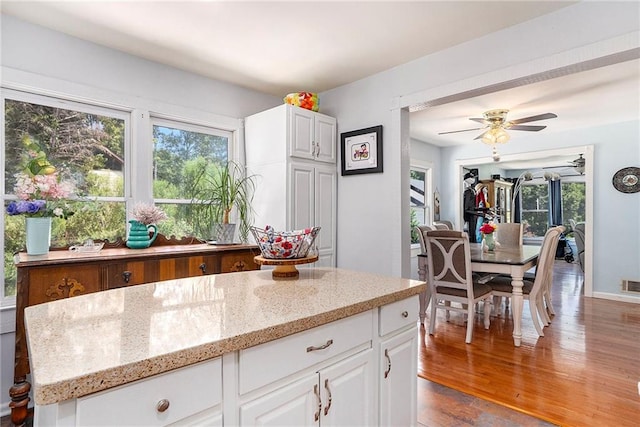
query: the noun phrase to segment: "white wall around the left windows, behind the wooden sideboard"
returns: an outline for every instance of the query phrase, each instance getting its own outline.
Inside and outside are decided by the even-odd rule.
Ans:
[[[282,99],[107,49],[1,15],[2,85],[99,100],[238,130]],[[4,155],[4,154],[2,154]],[[4,159],[0,158],[1,163]],[[0,311],[0,415],[13,384],[15,308]]]

